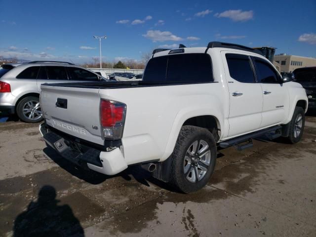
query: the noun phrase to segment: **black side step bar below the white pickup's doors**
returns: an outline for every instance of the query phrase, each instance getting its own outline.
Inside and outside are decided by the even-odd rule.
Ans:
[[[244,150],[246,148],[250,148],[252,147],[252,140],[253,138],[257,138],[263,135],[266,135],[269,139],[275,139],[277,137],[281,136],[281,130],[282,130],[282,126],[281,125],[276,125],[273,127],[269,127],[257,132],[252,132],[246,135],[242,135],[240,137],[236,137],[236,138],[232,138],[229,139],[227,141],[224,142],[220,142],[219,146],[221,148],[227,148],[227,147],[231,147],[231,146],[235,146],[237,148],[238,151]],[[245,143],[241,145],[241,143]]]

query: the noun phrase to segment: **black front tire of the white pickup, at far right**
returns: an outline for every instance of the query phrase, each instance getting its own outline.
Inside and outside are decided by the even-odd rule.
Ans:
[[[300,120],[300,121],[302,121],[301,124],[298,123],[299,118],[301,118],[301,120]],[[287,136],[287,140],[292,144],[299,142],[303,136],[304,126],[305,126],[304,110],[302,107],[295,107],[293,117],[292,117],[292,120],[290,121],[290,125],[289,125],[289,134]],[[296,131],[300,130],[299,134],[297,134],[295,132],[295,130]]]

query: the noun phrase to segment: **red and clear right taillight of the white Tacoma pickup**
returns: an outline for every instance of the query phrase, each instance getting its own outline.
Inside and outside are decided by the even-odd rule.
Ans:
[[[104,138],[116,140],[122,137],[125,114],[125,104],[111,100],[101,100],[100,120]]]

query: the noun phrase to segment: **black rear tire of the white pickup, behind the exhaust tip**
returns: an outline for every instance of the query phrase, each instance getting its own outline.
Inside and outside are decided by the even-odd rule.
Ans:
[[[189,149],[194,148],[194,143],[196,144],[196,141],[198,141],[196,151],[202,150],[200,148],[203,148],[203,146],[207,143],[209,153],[208,153],[208,150],[205,150],[204,152],[201,152],[200,155],[203,155],[206,153],[210,154],[209,165],[207,166],[200,159],[198,159],[198,156],[196,153],[194,156],[190,155],[191,156],[190,157],[191,161],[190,161],[190,166],[189,166],[190,168],[185,173],[185,169],[186,167],[188,167],[187,166],[188,159],[189,159],[188,154],[191,154],[191,153],[188,153]],[[212,175],[214,171],[216,157],[217,157],[216,149],[217,149],[216,141],[210,131],[208,131],[205,128],[196,127],[196,126],[189,126],[189,125],[182,126],[173,154],[171,155],[172,164],[171,164],[171,173],[170,173],[169,183],[172,186],[174,186],[176,189],[178,189],[179,191],[183,193],[187,193],[187,194],[196,192],[197,190],[203,188],[207,184],[210,176]],[[206,155],[201,159],[203,159],[204,161],[206,159]],[[203,174],[203,176],[201,176],[201,179],[198,180],[197,176],[199,175],[197,175],[196,173],[197,171],[202,172],[202,170],[198,168],[198,167],[201,167],[201,165],[204,167],[203,169],[207,171]],[[194,169],[194,171],[192,171],[192,168]],[[191,172],[191,176],[190,176],[190,172]],[[192,182],[193,181],[192,179],[194,179],[193,173],[196,175],[196,182]],[[191,181],[189,181],[189,179]]]

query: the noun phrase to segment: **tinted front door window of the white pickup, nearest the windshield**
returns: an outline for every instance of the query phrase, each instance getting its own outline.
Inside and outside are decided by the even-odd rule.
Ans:
[[[254,64],[259,83],[278,83],[279,76],[268,62],[260,58],[254,58]]]

